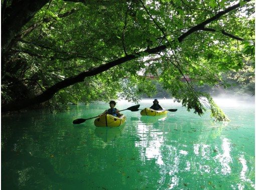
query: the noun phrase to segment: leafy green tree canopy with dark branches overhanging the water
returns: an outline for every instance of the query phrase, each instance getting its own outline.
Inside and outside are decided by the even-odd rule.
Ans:
[[[194,86],[254,69],[253,14],[253,0],[2,0],[2,111],[138,101],[151,73],[188,110],[227,120]]]

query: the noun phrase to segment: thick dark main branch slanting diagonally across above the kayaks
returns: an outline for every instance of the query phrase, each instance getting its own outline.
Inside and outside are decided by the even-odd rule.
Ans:
[[[245,1],[248,2],[250,0],[245,0]],[[227,9],[218,12],[216,15],[212,16],[211,18],[206,19],[205,21],[191,27],[188,31],[184,32],[181,36],[179,36],[177,38],[177,40],[171,41],[171,43],[174,44],[176,41],[182,42],[190,34],[196,32],[198,30],[203,29],[206,24],[220,18],[222,15],[236,9],[239,6],[240,6],[240,3],[238,2],[237,4],[234,4],[233,6],[230,6]],[[102,64],[100,66],[92,67],[89,70],[83,71],[83,72],[81,72],[81,73],[79,73],[75,76],[71,76],[69,78],[66,78],[66,79],[54,84],[53,86],[51,86],[50,88],[48,88],[47,90],[45,90],[42,94],[40,94],[38,96],[28,98],[28,99],[24,99],[24,100],[21,100],[19,102],[12,102],[12,103],[8,103],[6,105],[3,105],[2,106],[2,112],[3,111],[9,111],[9,110],[17,110],[17,109],[25,108],[29,105],[36,104],[36,103],[42,103],[46,100],[49,100],[51,97],[53,97],[53,95],[56,92],[58,92],[60,89],[63,89],[63,88],[65,88],[67,86],[70,86],[70,85],[73,85],[77,82],[84,81],[85,77],[96,75],[96,74],[101,73],[105,70],[108,70],[111,67],[122,64],[126,61],[129,61],[129,60],[136,59],[136,58],[141,57],[141,56],[145,56],[146,54],[155,54],[155,53],[161,52],[161,51],[167,49],[168,47],[169,46],[167,46],[167,45],[161,45],[161,46],[157,46],[157,47],[154,47],[154,48],[148,48],[148,49],[143,50],[143,51],[138,52],[138,53],[134,53],[134,54],[130,54],[130,55],[126,55],[126,56],[117,58],[116,60],[110,61],[110,62]]]

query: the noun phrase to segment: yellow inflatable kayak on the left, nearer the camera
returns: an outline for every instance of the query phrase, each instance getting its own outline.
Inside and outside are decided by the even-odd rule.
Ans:
[[[124,115],[116,117],[110,114],[104,114],[94,120],[94,125],[98,127],[117,127],[122,125],[126,120]]]

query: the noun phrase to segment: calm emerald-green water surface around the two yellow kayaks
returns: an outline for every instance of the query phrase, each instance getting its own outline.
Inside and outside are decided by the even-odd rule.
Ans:
[[[254,102],[217,102],[230,122],[167,99],[160,104],[176,112],[156,118],[125,110],[117,128],[95,127],[93,119],[72,124],[107,103],[2,115],[2,189],[254,189]]]

